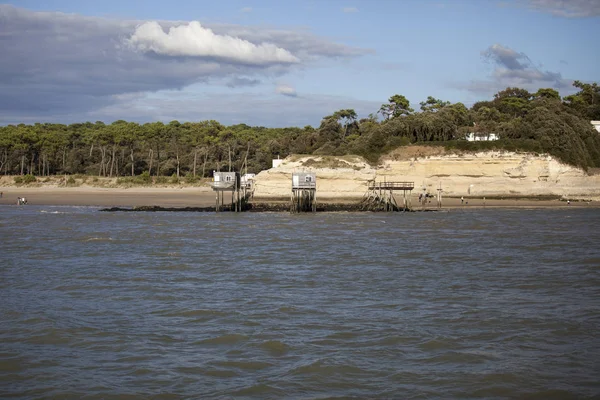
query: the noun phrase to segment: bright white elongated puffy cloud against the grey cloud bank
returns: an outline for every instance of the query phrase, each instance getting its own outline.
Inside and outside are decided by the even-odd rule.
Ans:
[[[288,50],[271,43],[254,44],[233,36],[217,35],[197,21],[169,28],[158,22],[138,26],[127,43],[142,52],[167,56],[214,57],[248,64],[297,63]]]

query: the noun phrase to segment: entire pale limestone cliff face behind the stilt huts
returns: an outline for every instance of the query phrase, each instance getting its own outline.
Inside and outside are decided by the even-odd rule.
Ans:
[[[369,180],[410,181],[415,192],[446,196],[568,196],[600,198],[600,175],[588,176],[579,168],[547,155],[514,152],[390,156],[377,167],[359,157],[305,156],[289,158],[256,177],[257,198],[289,197],[291,174],[310,170],[317,174],[318,198],[361,198]],[[337,161],[336,161],[337,160]],[[333,165],[328,167],[327,165]]]

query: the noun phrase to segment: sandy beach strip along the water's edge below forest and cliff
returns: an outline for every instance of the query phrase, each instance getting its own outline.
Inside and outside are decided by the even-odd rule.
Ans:
[[[25,197],[29,205],[42,206],[97,206],[103,208],[210,208],[215,205],[216,195],[210,187],[132,187],[132,188],[105,188],[105,187],[0,187],[3,196],[0,205],[17,205],[17,197]],[[362,196],[353,196],[345,193],[338,197],[318,197],[317,207],[321,209],[339,209],[340,211],[355,210]],[[417,194],[413,193],[413,211],[437,210],[435,199],[426,205],[420,204]],[[258,209],[283,209],[288,199],[285,198],[255,198],[251,201],[255,212]],[[269,206],[269,205],[277,205]],[[327,207],[329,206],[329,207]],[[482,208],[600,208],[597,200],[571,200],[568,203],[558,198],[549,199],[548,196],[514,198],[484,199],[481,197],[464,197],[464,202],[457,197],[446,197],[442,201],[441,209],[482,209]],[[185,211],[185,210],[181,210]]]

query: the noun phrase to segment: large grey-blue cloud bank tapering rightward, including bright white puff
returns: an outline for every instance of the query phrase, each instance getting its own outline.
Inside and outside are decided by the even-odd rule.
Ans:
[[[128,109],[134,101],[139,118],[146,110],[142,119],[155,120],[158,108],[144,107],[143,99],[155,104],[169,98],[161,93],[192,85],[221,87],[226,93],[264,84],[265,93],[276,96],[268,82],[315,62],[372,53],[304,30],[120,20],[2,4],[0,48],[0,124],[86,121],[100,115],[107,121],[127,119],[106,110]],[[240,107],[233,102],[229,109]],[[272,109],[263,110],[263,123],[271,114]],[[197,120],[197,115],[190,112],[185,119]]]

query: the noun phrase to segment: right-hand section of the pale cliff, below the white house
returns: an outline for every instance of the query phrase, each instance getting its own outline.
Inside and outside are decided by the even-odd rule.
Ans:
[[[379,176],[412,180],[448,196],[599,196],[600,176],[563,164],[550,156],[512,152],[443,155],[389,160]]]

